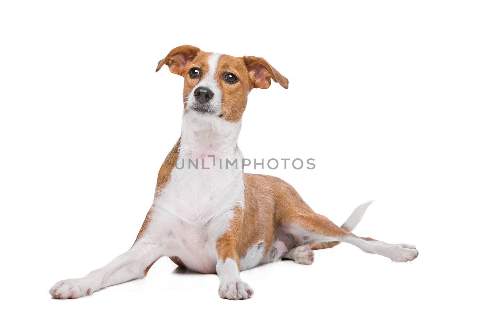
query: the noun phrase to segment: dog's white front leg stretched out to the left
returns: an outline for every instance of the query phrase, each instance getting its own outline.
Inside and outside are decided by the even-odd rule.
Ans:
[[[80,298],[104,287],[140,279],[161,255],[158,245],[137,241],[131,249],[103,268],[92,271],[80,279],[59,281],[49,292],[54,298]]]

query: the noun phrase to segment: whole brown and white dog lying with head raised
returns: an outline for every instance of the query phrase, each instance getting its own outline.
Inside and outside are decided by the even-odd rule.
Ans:
[[[371,202],[356,208],[341,227],[315,213],[283,180],[247,174],[237,146],[247,95],[288,79],[260,57],[231,57],[184,45],[158,63],[184,77],[182,134],[161,166],[154,202],[131,249],[81,279],[55,284],[55,298],[80,298],[103,287],[142,278],[168,256],[177,265],[217,273],[219,295],[246,299],[253,290],[239,272],[282,258],[312,264],[313,249],[339,242],[393,261],[407,262],[418,251],[350,231]],[[212,157],[205,161],[204,158]],[[191,159],[197,165],[185,166]],[[216,161],[238,166],[221,168]],[[182,168],[183,166],[183,168]]]

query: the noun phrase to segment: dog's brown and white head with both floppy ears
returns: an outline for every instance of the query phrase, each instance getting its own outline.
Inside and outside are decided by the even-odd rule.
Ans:
[[[164,64],[172,73],[184,77],[185,114],[194,111],[236,122],[241,119],[253,88],[268,88],[271,79],[288,88],[288,79],[261,57],[231,57],[183,45],[159,61],[156,72]]]

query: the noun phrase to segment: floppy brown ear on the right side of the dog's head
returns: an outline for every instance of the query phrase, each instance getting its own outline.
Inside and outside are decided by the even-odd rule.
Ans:
[[[288,79],[282,76],[262,57],[243,57],[249,72],[249,78],[254,88],[266,89],[271,85],[271,79],[288,89]]]

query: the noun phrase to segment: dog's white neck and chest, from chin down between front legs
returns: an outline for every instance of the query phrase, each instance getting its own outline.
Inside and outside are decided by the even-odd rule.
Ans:
[[[244,206],[242,154],[237,142],[222,145],[223,139],[237,141],[225,135],[240,125],[220,120],[202,124],[201,119],[187,117],[183,126],[176,167],[154,199],[154,238],[187,268],[212,273],[217,263],[215,243],[235,208]],[[228,168],[227,159],[236,159],[237,165]]]

